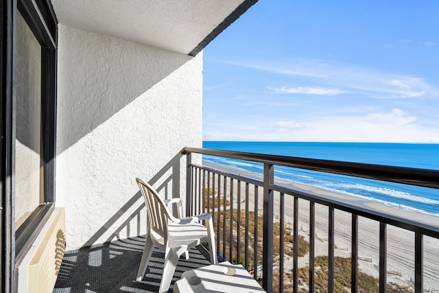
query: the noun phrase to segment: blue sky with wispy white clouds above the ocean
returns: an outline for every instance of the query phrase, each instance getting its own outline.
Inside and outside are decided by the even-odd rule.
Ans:
[[[259,0],[204,49],[203,139],[439,143],[438,15]]]

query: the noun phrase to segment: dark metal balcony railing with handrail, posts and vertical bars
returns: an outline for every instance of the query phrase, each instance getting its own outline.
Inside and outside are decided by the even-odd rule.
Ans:
[[[195,165],[191,162],[191,154],[209,154],[212,156],[222,156],[230,159],[239,159],[245,161],[253,161],[258,163],[263,163],[263,182],[259,182],[259,180],[254,180],[248,177],[242,177],[236,174],[221,172],[216,169],[212,169],[209,167]],[[273,265],[273,212],[274,212],[274,196],[273,191],[280,192],[281,198],[281,214],[283,215],[283,196],[292,195],[294,196],[294,235],[298,235],[298,199],[302,198],[305,200],[309,200],[309,219],[310,219],[310,231],[314,231],[314,219],[315,210],[314,204],[319,203],[324,206],[329,207],[328,213],[328,222],[329,222],[329,243],[328,243],[328,291],[334,292],[334,272],[335,272],[335,242],[334,242],[334,233],[335,233],[335,221],[334,221],[334,211],[335,209],[340,209],[342,211],[347,211],[352,215],[352,253],[351,257],[351,290],[352,292],[357,292],[358,286],[358,216],[363,216],[365,218],[370,218],[372,220],[377,220],[379,222],[379,292],[385,292],[387,286],[387,224],[393,226],[399,226],[400,228],[404,228],[408,231],[414,232],[414,270],[415,270],[415,280],[414,280],[414,290],[416,293],[423,292],[423,236],[428,235],[431,237],[435,237],[439,239],[439,226],[431,226],[429,224],[423,224],[421,222],[416,222],[412,220],[408,220],[406,218],[401,218],[397,215],[392,215],[388,213],[383,213],[381,211],[375,211],[373,209],[368,209],[364,207],[357,207],[351,203],[343,202],[331,198],[327,198],[325,196],[319,196],[317,194],[311,194],[308,191],[304,191],[302,189],[291,188],[291,187],[282,187],[275,185],[274,183],[274,166],[281,165],[286,167],[295,167],[299,169],[309,169],[319,172],[327,172],[333,174],[342,174],[346,176],[356,176],[360,178],[369,178],[375,180],[383,180],[389,181],[392,183],[402,183],[407,185],[416,185],[421,187],[430,187],[434,189],[439,189],[439,170],[431,170],[431,169],[417,169],[410,167],[393,167],[386,165],[372,165],[365,163],[348,163],[348,162],[340,162],[340,161],[329,161],[329,160],[321,160],[321,159],[305,159],[298,158],[292,156],[276,156],[270,154],[254,154],[254,153],[246,153],[246,152],[232,152],[225,150],[211,150],[211,149],[203,149],[203,148],[184,148],[182,150],[182,154],[187,154],[187,203],[191,204],[192,198],[192,168],[195,167],[200,170],[198,183],[204,185],[204,173],[203,180],[201,179],[201,170],[203,172],[207,171],[208,176],[209,172],[212,174],[218,174],[218,226],[219,226],[219,182],[220,182],[220,174],[224,175],[224,191],[226,191],[226,176],[230,177],[230,199],[233,195],[233,178],[241,180],[244,182],[252,182],[255,185],[255,193],[257,194],[257,185],[263,186],[263,253],[262,253],[262,263],[263,263],[263,288],[272,292],[273,288],[273,278],[272,278],[272,265]],[[210,177],[209,177],[210,178]],[[214,175],[213,175],[213,178]],[[197,183],[197,178],[195,176],[195,185]],[[214,183],[213,183],[214,184]],[[208,188],[209,188],[209,179],[208,179]],[[247,187],[246,187],[247,188]],[[201,191],[198,191],[198,196],[201,196]],[[204,195],[204,191],[202,193]],[[246,196],[248,196],[248,189],[246,189]],[[223,213],[223,250],[226,250],[226,239],[225,236],[225,226],[226,226],[226,212],[225,212],[225,193],[224,193],[224,213]],[[258,203],[256,196],[254,198],[254,209],[256,211]],[[248,201],[246,201],[248,202]],[[198,200],[198,204],[201,201]],[[196,204],[196,202],[195,202]],[[200,209],[200,208],[199,208]],[[213,206],[214,209],[214,206]],[[233,206],[230,206],[230,209],[233,210]],[[190,213],[190,207],[189,207]],[[248,211],[248,207],[246,207],[246,211]],[[257,213],[255,215],[255,222]],[[233,226],[233,217],[230,216],[230,227]],[[282,221],[283,222],[283,221]],[[312,224],[311,224],[312,222]],[[246,224],[247,226],[247,224]],[[257,226],[255,224],[255,226]],[[218,227],[219,231],[219,227]],[[246,232],[247,233],[247,232]],[[254,239],[257,239],[257,229],[254,230]],[[310,235],[314,235],[314,233],[310,232]],[[233,236],[230,232],[230,239]],[[246,238],[247,239],[247,238]],[[218,238],[218,246],[219,246],[219,238]],[[231,241],[231,240],[230,240]],[[247,243],[247,242],[246,242]],[[247,246],[247,244],[246,244]],[[255,242],[254,247],[257,247]],[[314,263],[311,261],[314,255],[311,251],[314,250],[314,242],[310,242],[310,268],[312,269],[309,272],[309,280],[310,286],[313,287],[313,275],[314,275]],[[257,253],[255,248],[255,256],[254,256],[254,267],[257,266]],[[230,249],[230,257],[232,256],[232,249]],[[247,250],[246,250],[246,259],[247,259]],[[246,260],[247,261],[247,260]],[[298,237],[294,237],[294,277],[293,277],[293,288],[296,292],[298,290]],[[312,263],[312,265],[311,265]],[[281,274],[280,274],[281,275]],[[283,277],[280,277],[280,284],[283,282]]]

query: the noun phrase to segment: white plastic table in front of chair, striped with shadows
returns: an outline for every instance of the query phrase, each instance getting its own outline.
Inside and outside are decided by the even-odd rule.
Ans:
[[[228,261],[183,272],[174,283],[174,293],[186,292],[265,292],[241,265]]]

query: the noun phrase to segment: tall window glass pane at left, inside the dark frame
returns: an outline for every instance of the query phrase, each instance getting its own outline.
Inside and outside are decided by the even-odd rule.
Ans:
[[[41,47],[23,17],[16,23],[15,228],[43,202]]]

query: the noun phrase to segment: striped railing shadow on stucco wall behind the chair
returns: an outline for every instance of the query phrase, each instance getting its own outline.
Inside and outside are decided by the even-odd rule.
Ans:
[[[180,197],[180,158],[182,154],[177,154],[174,156],[171,161],[169,161],[165,166],[163,166],[160,171],[157,172],[157,174],[150,178],[150,180],[147,180],[148,178],[145,178],[147,180],[147,183],[150,185],[154,185],[158,180],[163,181],[161,185],[156,187],[156,190],[159,194],[162,196],[165,196],[165,199],[169,198],[178,198]],[[169,173],[169,176],[167,178],[163,178],[165,174]],[[163,180],[164,179],[164,180]],[[134,185],[137,185],[135,178],[132,178],[132,182]],[[171,185],[171,190],[173,191],[172,194],[169,191],[169,185]],[[123,204],[123,207],[119,209],[115,215],[112,215],[112,217],[102,226],[99,228],[99,230],[84,244],[84,246],[91,246],[97,240],[104,235],[104,233],[107,233],[109,230],[112,230],[111,235],[108,237],[108,239],[105,240],[105,242],[110,242],[113,239],[121,239],[120,233],[121,231],[127,231],[127,235],[132,235],[130,233],[130,229],[132,229],[133,220],[135,220],[135,226],[137,229],[136,235],[141,235],[141,213],[146,213],[146,209],[143,211],[143,208],[145,208],[145,203],[143,202],[131,215],[128,216],[128,218],[119,226],[113,227],[114,224],[121,218],[122,215],[125,215],[128,209],[132,207],[139,198],[141,198],[142,194],[140,191],[137,191],[126,204]]]

